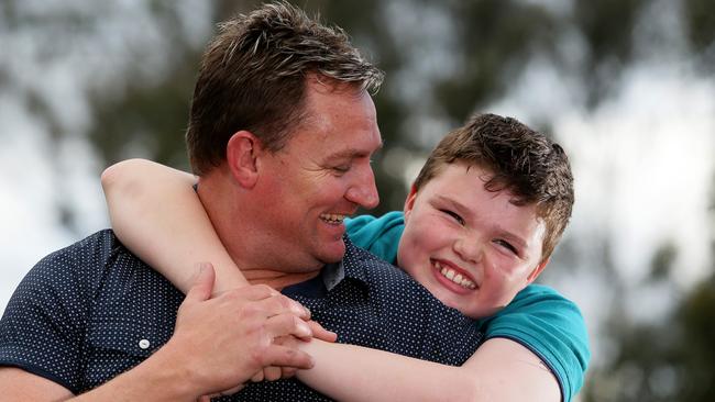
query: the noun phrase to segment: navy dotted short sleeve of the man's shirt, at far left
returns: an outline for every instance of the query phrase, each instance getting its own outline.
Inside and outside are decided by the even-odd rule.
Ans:
[[[92,246],[88,239],[84,246]],[[101,245],[98,245],[101,248]],[[81,388],[82,340],[90,303],[80,264],[101,264],[103,253],[85,258],[81,243],[51,254],[33,267],[13,293],[0,320],[0,365],[21,368],[74,393]],[[95,259],[95,261],[85,260]]]

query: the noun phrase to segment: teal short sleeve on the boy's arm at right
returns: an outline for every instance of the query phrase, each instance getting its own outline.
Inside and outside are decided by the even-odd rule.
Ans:
[[[585,322],[579,308],[556,290],[530,284],[499,313],[483,321],[485,339],[518,342],[557,376],[563,401],[583,386],[591,358]]]

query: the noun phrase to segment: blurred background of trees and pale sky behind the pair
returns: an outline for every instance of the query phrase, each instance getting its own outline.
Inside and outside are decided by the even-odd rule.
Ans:
[[[198,58],[218,21],[254,4],[0,2],[0,311],[40,258],[108,225],[106,166],[188,168]],[[387,74],[374,213],[402,209],[426,154],[471,113],[538,127],[576,179],[540,281],[588,324],[579,400],[715,400],[715,2],[298,4]]]

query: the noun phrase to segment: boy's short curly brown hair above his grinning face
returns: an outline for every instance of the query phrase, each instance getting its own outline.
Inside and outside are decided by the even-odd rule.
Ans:
[[[415,180],[419,189],[447,165],[463,161],[488,170],[484,188],[508,190],[517,205],[536,204],[546,223],[542,259],[561,238],[573,206],[573,176],[559,144],[519,121],[479,114],[449,133],[430,154]]]

